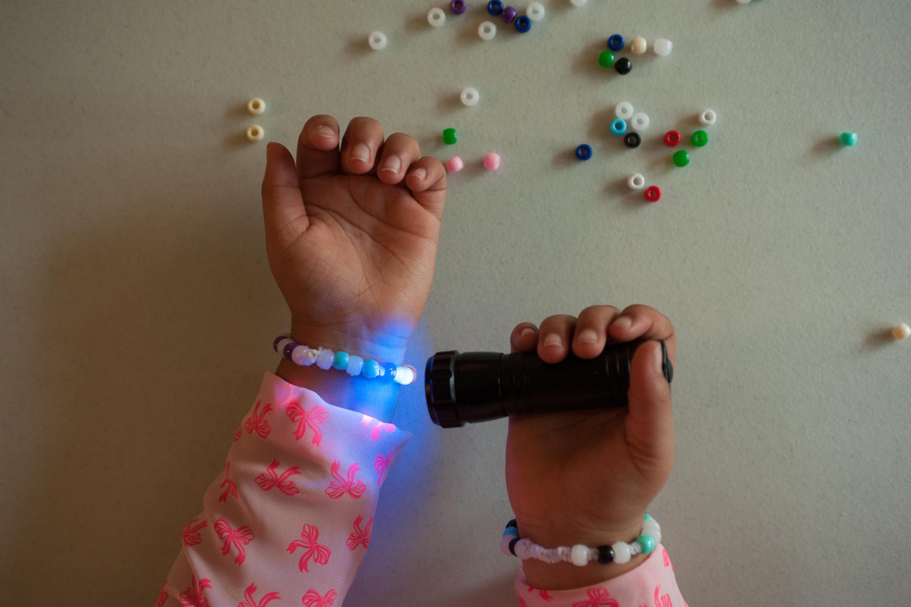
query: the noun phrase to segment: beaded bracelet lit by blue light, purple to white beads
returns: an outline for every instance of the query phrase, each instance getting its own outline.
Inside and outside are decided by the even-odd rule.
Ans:
[[[331,349],[310,348],[302,346],[291,339],[288,333],[282,333],[272,341],[272,349],[296,365],[310,367],[313,363],[320,369],[330,367],[346,371],[354,377],[362,375],[367,379],[378,379],[385,383],[395,381],[407,386],[417,378],[417,369],[411,365],[396,365],[392,362],[379,363],[373,359],[363,359],[348,352],[333,352]]]

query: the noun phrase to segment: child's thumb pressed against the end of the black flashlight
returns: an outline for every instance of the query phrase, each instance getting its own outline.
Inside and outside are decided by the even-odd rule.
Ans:
[[[647,341],[630,363],[630,413],[626,420],[630,454],[637,467],[663,484],[674,462],[674,420],[670,384],[664,379],[658,341]],[[658,478],[654,480],[658,481]]]

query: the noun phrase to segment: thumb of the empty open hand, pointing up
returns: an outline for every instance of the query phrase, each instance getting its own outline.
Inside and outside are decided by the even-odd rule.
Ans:
[[[266,146],[266,172],[262,177],[262,215],[266,234],[278,238],[280,248],[289,244],[296,235],[310,226],[303,207],[301,189],[297,186],[297,170],[291,152],[281,144]],[[294,229],[285,229],[298,223]],[[284,239],[284,242],[281,241]]]

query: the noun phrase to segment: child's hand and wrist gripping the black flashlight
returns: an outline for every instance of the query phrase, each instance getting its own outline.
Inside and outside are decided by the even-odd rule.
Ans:
[[[536,332],[521,337],[524,329]],[[595,339],[590,343],[582,341],[587,329]],[[563,345],[550,345],[552,334]],[[608,338],[664,339],[671,363],[675,360],[670,320],[646,306],[630,306],[622,313],[612,306],[592,306],[582,310],[578,320],[551,316],[540,331],[523,322],[513,329],[510,344],[513,352],[537,348],[542,360],[556,363],[566,358],[567,344],[579,358],[593,359]],[[556,548],[629,542],[639,535],[642,515],[674,463],[670,385],[661,373],[660,350],[657,341],[636,350],[628,410],[509,418],[507,491],[523,537]],[[616,577],[645,558],[634,557],[626,565],[586,567],[526,561],[525,573],[529,585],[537,588],[579,588]]]

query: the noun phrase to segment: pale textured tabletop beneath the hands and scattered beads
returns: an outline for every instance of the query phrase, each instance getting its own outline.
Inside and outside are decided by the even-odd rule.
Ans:
[[[679,456],[650,511],[691,606],[911,596],[911,344],[884,338],[911,321],[911,4],[560,0],[490,42],[469,4],[439,29],[417,0],[0,5],[0,603],[154,602],[287,329],[243,130],[292,145],[322,112],[466,160],[419,369],[597,303],[674,320]],[[615,32],[673,54],[620,77]],[[623,100],[651,118],[637,150],[607,130]],[[660,135],[706,107],[673,167]],[[346,605],[513,604],[505,422],[439,430],[420,384],[396,422],[415,439]]]

